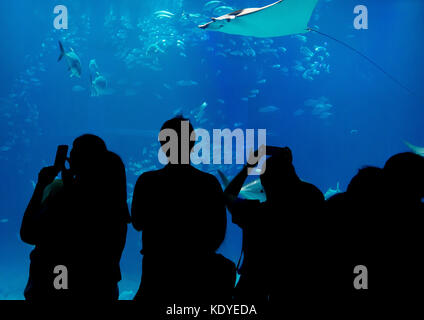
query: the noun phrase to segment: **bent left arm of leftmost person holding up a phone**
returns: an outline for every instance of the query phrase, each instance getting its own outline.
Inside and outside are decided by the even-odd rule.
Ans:
[[[41,209],[44,189],[53,182],[58,170],[55,167],[45,167],[38,174],[34,193],[29,201],[22,219],[20,235],[23,242],[35,245],[40,230]]]

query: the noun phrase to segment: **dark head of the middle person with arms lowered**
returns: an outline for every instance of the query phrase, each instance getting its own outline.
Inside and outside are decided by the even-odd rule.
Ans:
[[[196,136],[190,120],[182,115],[166,121],[160,129],[162,150],[171,164],[189,164]]]

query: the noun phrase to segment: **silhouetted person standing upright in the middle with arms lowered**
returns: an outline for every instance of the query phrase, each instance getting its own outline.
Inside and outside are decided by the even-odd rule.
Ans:
[[[142,303],[223,301],[231,298],[235,282],[234,264],[215,253],[226,232],[223,192],[214,176],[189,164],[194,140],[185,139],[184,126],[194,136],[182,116],[163,124],[161,144],[169,162],[143,173],[134,189],[132,223],[142,231],[143,248],[134,299]]]

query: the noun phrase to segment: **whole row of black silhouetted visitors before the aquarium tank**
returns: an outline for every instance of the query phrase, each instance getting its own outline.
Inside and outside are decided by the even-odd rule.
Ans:
[[[180,132],[186,120],[173,118],[161,130]],[[266,156],[265,202],[239,196],[256,163],[246,164],[223,191],[213,175],[181,164],[180,153],[177,164],[138,178],[130,214],[120,157],[97,136],[77,138],[69,169],[41,170],[23,217],[21,238],[35,246],[25,298],[117,300],[129,223],[142,231],[134,299],[145,306],[237,303],[275,311],[300,302],[417,298],[413,292],[424,284],[423,157],[401,153],[384,168],[360,169],[346,192],[325,201],[298,177],[289,148],[267,148]],[[62,179],[55,180],[59,172]],[[226,209],[243,231],[237,267],[217,253]],[[67,269],[65,290],[54,285],[56,266]],[[357,266],[367,271],[360,288]]]

